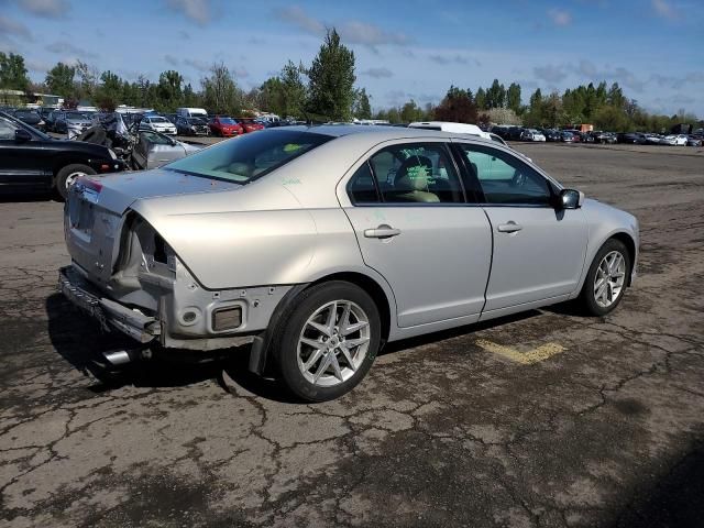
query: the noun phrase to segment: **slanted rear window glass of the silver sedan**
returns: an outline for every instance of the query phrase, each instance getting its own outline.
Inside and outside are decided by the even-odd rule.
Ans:
[[[272,130],[224,141],[166,165],[168,170],[246,184],[330,141],[329,135]]]

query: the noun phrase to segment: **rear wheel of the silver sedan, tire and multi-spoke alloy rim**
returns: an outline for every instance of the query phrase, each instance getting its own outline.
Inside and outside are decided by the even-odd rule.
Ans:
[[[333,306],[336,322],[329,324]],[[346,334],[341,328],[345,311]],[[285,322],[274,334],[273,358],[280,381],[306,402],[326,402],[351,391],[366,375],[378,352],[378,308],[366,292],[350,283],[334,280],[304,290],[279,320]],[[360,328],[350,332],[353,327]],[[345,344],[352,342],[358,344]]]

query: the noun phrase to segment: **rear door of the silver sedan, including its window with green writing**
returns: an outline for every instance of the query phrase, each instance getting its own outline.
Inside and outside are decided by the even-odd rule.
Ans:
[[[481,207],[468,204],[443,142],[397,142],[356,168],[344,207],[364,262],[391,285],[402,328],[477,320],[492,258]]]

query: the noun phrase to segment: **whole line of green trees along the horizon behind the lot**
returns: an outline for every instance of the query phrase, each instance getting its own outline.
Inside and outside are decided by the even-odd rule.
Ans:
[[[88,102],[110,110],[117,105],[154,108],[173,112],[178,107],[204,107],[211,113],[245,114],[254,109],[307,121],[350,121],[381,119],[392,123],[439,120],[465,123],[522,124],[557,128],[592,123],[612,131],[668,130],[681,122],[697,122],[684,110],[674,116],[647,112],[638,101],[628,98],[622,87],[605,81],[580,85],[543,94],[536,88],[524,103],[518,82],[506,87],[498,79],[488,87],[451,86],[436,106],[420,107],[413,99],[398,107],[372,112],[371,96],[355,85],[354,52],[348,48],[333,28],[327,32],[317,56],[309,66],[288,61],[280,72],[261,86],[243,90],[223,63],[215,63],[200,86],[186,82],[174,69],[163,72],[157,81],[144,76],[136,80],[121,78],[110,70],[99,72],[81,61],[57,63],[43,82],[28,77],[24,58],[0,52],[0,88],[23,91],[48,91],[65,99],[67,106]]]

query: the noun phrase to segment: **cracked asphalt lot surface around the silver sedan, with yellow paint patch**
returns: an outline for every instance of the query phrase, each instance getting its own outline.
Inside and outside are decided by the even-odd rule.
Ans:
[[[107,371],[119,343],[55,290],[62,205],[1,202],[1,522],[702,526],[704,151],[517,148],[639,218],[620,307],[394,343],[318,405],[250,376],[246,350]]]

